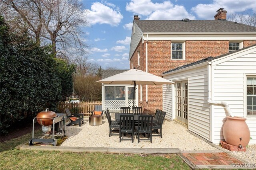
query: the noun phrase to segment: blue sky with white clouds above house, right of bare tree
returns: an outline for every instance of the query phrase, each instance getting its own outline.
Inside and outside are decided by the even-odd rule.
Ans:
[[[129,69],[134,15],[140,20],[214,20],[219,8],[231,13],[256,12],[255,0],[82,0],[88,26],[84,39],[90,45],[88,61],[103,69]]]

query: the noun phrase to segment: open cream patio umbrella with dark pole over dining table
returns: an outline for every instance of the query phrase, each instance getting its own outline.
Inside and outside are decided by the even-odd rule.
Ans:
[[[154,74],[150,74],[148,72],[144,72],[142,70],[131,69],[125,72],[116,74],[114,76],[110,76],[108,78],[104,78],[102,80],[97,81],[99,83],[104,84],[130,84],[134,85],[133,90],[133,106],[134,106],[134,96],[136,90],[136,84],[142,85],[161,85],[161,84],[174,84],[174,82],[170,80],[166,80],[162,77],[158,77]]]

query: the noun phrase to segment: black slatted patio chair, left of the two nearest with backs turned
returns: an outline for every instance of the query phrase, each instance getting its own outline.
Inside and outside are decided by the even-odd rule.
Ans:
[[[122,140],[122,133],[131,133],[132,143],[133,143],[133,134],[134,134],[134,115],[120,115],[120,129],[119,129],[119,142]]]

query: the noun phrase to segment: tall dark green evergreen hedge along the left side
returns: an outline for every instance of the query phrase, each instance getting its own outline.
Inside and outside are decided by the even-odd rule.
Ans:
[[[8,128],[26,117],[49,108],[72,94],[74,66],[56,59],[50,47],[40,47],[28,34],[9,33],[0,16],[0,128]],[[20,41],[22,40],[22,41]]]

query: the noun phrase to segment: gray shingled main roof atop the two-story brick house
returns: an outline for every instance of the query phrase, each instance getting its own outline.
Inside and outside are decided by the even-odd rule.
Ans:
[[[134,20],[142,32],[256,32],[256,27],[226,20]]]

